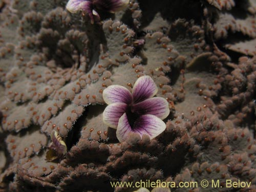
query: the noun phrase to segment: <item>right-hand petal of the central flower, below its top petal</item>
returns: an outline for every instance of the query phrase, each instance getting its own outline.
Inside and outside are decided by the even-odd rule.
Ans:
[[[166,99],[162,97],[153,97],[141,101],[132,106],[132,112],[140,115],[151,114],[160,119],[165,119],[169,113],[169,104]]]

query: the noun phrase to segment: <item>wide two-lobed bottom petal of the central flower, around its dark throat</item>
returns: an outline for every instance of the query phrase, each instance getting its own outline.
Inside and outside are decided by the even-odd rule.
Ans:
[[[127,115],[123,114],[118,122],[116,136],[120,142],[124,141],[131,132],[138,133],[141,137],[148,135],[150,139],[153,139],[160,135],[165,128],[165,123],[155,115],[142,115],[131,127]]]

